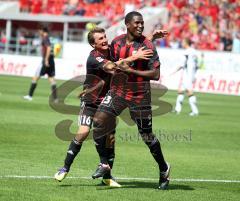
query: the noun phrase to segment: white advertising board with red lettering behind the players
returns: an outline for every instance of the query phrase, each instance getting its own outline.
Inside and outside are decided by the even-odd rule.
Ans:
[[[64,47],[64,59],[55,59],[56,78],[68,80],[86,74],[86,61],[91,47],[69,43]],[[170,75],[180,65],[183,50],[158,49],[161,60],[161,83],[178,89],[181,72]],[[222,52],[199,52],[202,68],[198,70],[194,90],[204,93],[240,95],[240,55]],[[33,76],[41,64],[40,57],[0,55],[0,74]]]

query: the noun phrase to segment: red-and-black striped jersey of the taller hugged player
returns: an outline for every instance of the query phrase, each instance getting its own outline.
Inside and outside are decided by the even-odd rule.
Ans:
[[[110,50],[114,61],[132,56],[139,48],[145,47],[144,49],[153,50],[153,56],[150,60],[137,60],[130,67],[140,71],[160,68],[157,50],[151,41],[142,36],[128,45],[126,39],[127,35],[123,34],[112,41]],[[143,76],[118,72],[113,76],[111,90],[126,100],[140,102],[150,93],[150,80]]]

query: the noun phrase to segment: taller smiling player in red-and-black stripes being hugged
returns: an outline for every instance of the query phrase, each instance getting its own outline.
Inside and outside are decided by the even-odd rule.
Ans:
[[[101,163],[92,177],[98,178],[110,171],[105,141],[115,129],[115,118],[129,108],[138,131],[159,166],[159,189],[167,189],[170,165],[165,162],[160,142],[152,133],[152,109],[150,80],[160,77],[160,61],[156,48],[145,36],[143,17],[133,11],[126,15],[127,34],[116,37],[111,43],[114,61],[124,60],[134,55],[140,48],[150,49],[153,55],[149,60],[138,59],[128,65],[119,65],[121,71],[113,75],[111,88],[94,116],[93,137]]]

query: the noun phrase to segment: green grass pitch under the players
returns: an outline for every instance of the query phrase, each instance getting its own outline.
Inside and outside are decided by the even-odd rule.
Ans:
[[[154,117],[154,131],[172,165],[173,181],[167,191],[157,190],[158,168],[137,137],[136,127],[119,120],[113,175],[125,179],[119,179],[122,188],[111,189],[99,185],[100,180],[90,179],[99,161],[92,140],[84,143],[76,158],[68,175],[73,178],[61,183],[50,178],[63,165],[69,145],[56,137],[55,126],[61,120],[71,119],[71,131],[75,132],[77,116],[50,108],[50,87],[45,79],[39,81],[32,102],[23,100],[29,84],[30,78],[0,76],[1,201],[239,200],[240,97],[197,93],[198,117],[188,116],[187,98],[182,114]],[[78,106],[79,91],[74,90],[66,103]],[[153,90],[153,94],[157,93]],[[175,98],[176,92],[168,91],[161,100],[174,105]]]

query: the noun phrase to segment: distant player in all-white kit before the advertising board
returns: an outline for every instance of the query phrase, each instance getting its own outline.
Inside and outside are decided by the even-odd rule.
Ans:
[[[184,92],[187,92],[189,105],[191,108],[190,116],[197,116],[199,114],[197,107],[197,98],[193,93],[193,83],[195,81],[196,72],[198,69],[198,59],[196,50],[193,48],[193,44],[189,39],[183,41],[183,47],[185,48],[185,55],[183,64],[176,70],[183,70],[181,83],[178,89],[178,96],[176,100],[175,112],[180,114],[182,110],[182,103],[184,100]]]

